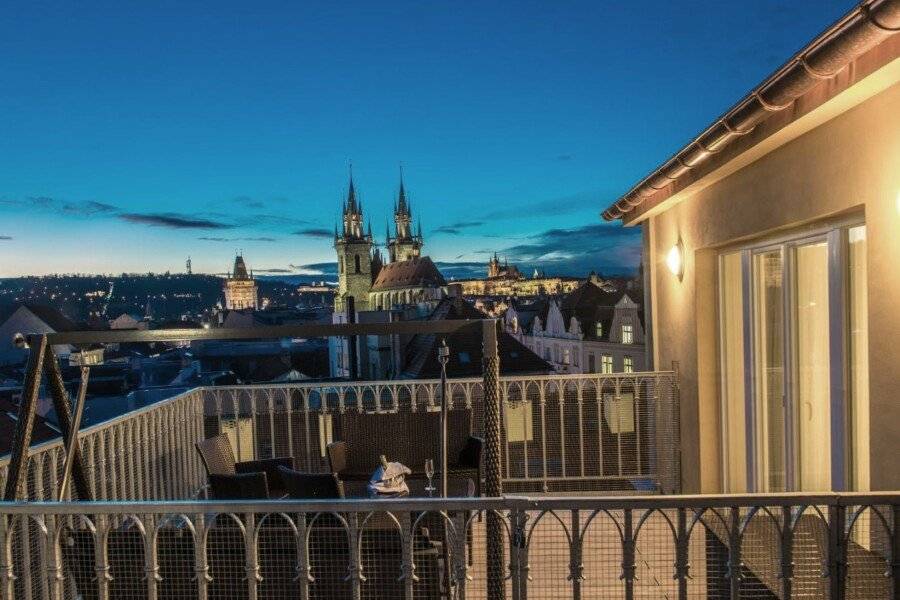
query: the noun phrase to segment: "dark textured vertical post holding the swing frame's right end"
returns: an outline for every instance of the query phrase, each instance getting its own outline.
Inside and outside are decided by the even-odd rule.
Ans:
[[[500,357],[497,352],[496,319],[482,321],[484,378],[484,480],[485,495],[503,495],[500,477]],[[503,577],[503,523],[494,511],[487,514],[487,597],[503,600],[506,588]]]

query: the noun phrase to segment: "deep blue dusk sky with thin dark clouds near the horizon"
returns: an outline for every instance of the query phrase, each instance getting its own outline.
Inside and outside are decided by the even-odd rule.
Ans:
[[[0,277],[330,271],[352,162],[383,243],[634,268],[600,211],[850,1],[17,3],[0,20]]]

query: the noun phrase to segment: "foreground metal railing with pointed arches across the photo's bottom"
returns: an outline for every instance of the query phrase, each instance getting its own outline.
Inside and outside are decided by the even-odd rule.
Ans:
[[[484,598],[482,514],[514,600],[900,592],[892,493],[6,503],[0,596]]]

